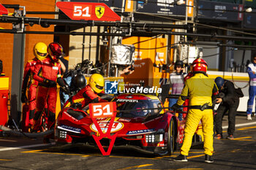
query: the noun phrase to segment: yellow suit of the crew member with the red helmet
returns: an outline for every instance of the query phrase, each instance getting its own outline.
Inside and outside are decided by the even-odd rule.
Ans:
[[[211,96],[217,95],[217,93],[218,88],[214,80],[208,78],[206,74],[197,73],[185,82],[177,104],[182,105],[186,97],[189,96],[189,107],[199,107],[206,103],[212,106]],[[200,109],[189,109],[184,130],[184,141],[181,147],[182,155],[189,155],[192,137],[200,120],[202,121],[205,154],[212,155],[214,152],[214,116],[212,109],[208,108],[203,111]]]

